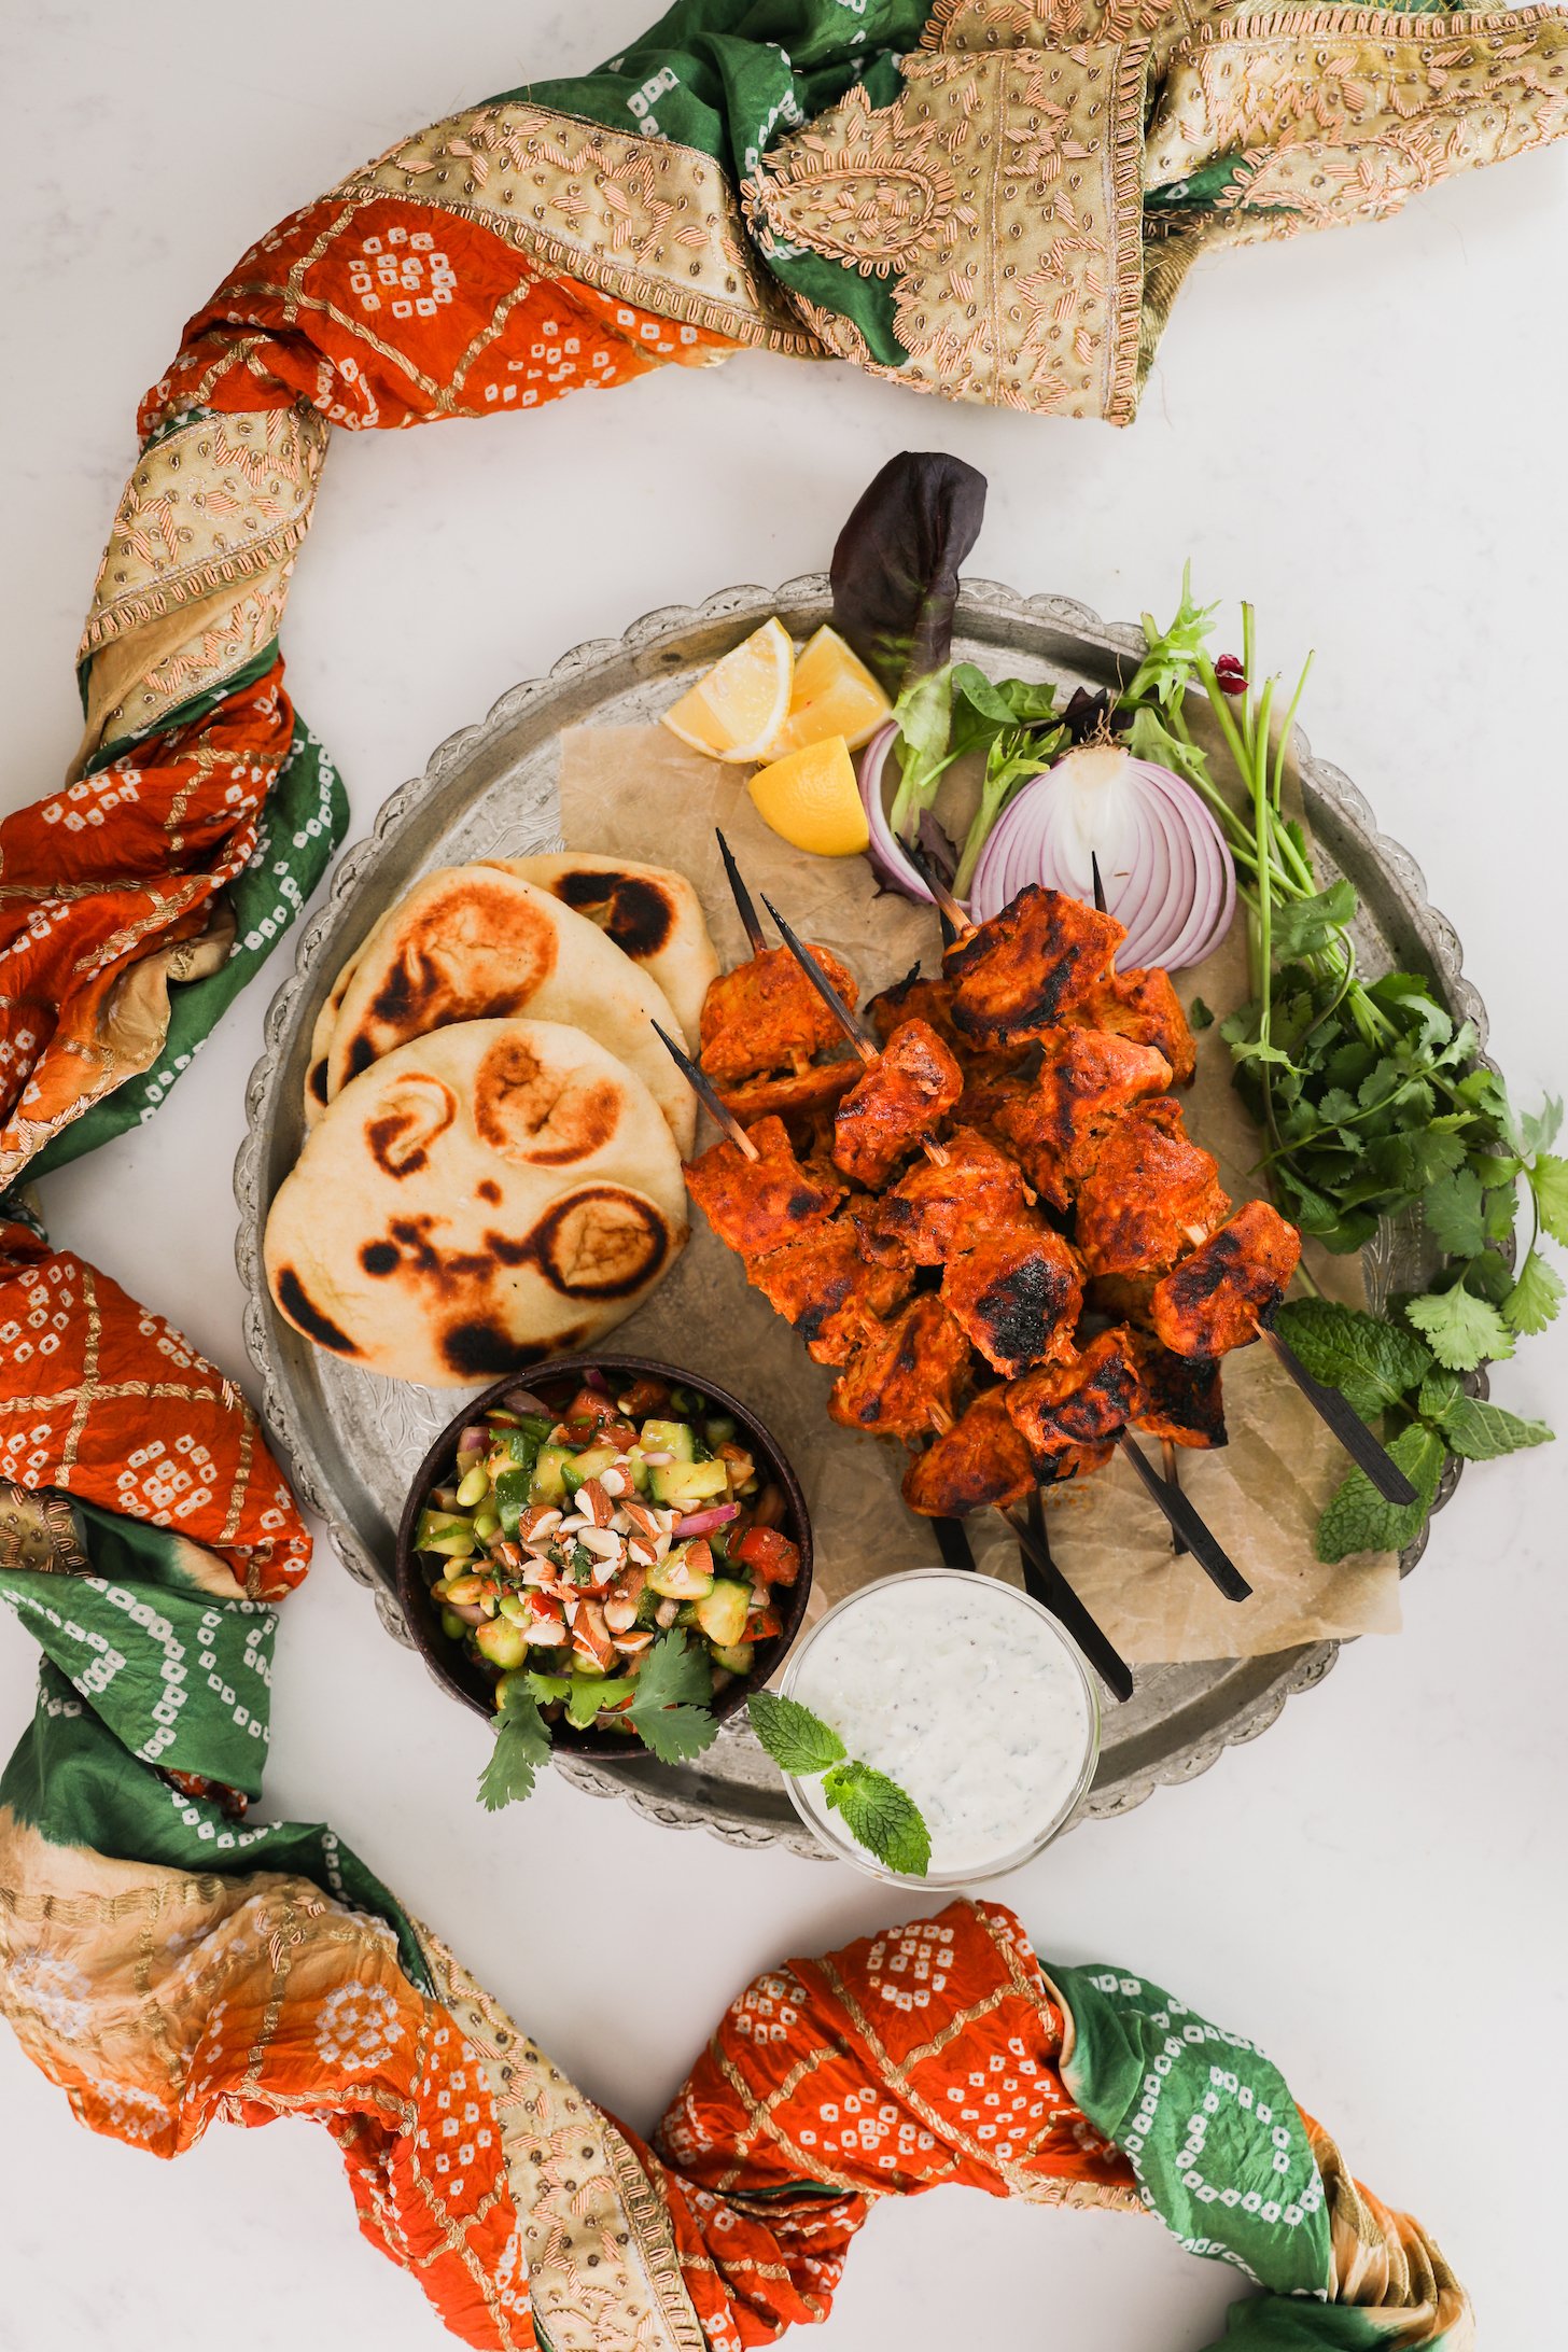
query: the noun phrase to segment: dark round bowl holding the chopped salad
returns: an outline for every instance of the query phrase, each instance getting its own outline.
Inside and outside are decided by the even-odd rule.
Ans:
[[[637,1374],[649,1374],[654,1381],[668,1381],[672,1388],[696,1388],[703,1397],[710,1397],[724,1414],[736,1421],[738,1435],[745,1439],[750,1454],[755,1456],[759,1470],[773,1479],[785,1498],[783,1534],[799,1548],[799,1576],[792,1585],[773,1588],[778,1592],[776,1606],[783,1611],[783,1632],[771,1642],[757,1644],[757,1656],[752,1661],[750,1675],[738,1675],[726,1684],[712,1700],[712,1712],[724,1719],[743,1708],[752,1691],[778,1670],[783,1663],[799,1623],[806,1613],[806,1599],[811,1595],[811,1519],[806,1515],[806,1498],[799,1491],[799,1479],[790,1463],[778,1451],[773,1437],[764,1430],[752,1411],[731,1397],[729,1390],[715,1388],[696,1371],[684,1371],[679,1364],[658,1364],[646,1355],[564,1355],[548,1364],[531,1364],[520,1371],[508,1374],[503,1381],[494,1381],[484,1395],[470,1397],[461,1414],[454,1414],[442,1435],[435,1439],[423,1463],[418,1465],[418,1477],[409,1489],[409,1501],[402,1510],[402,1524],[397,1529],[397,1602],[402,1606],[404,1625],[414,1639],[414,1649],[421,1653],[435,1679],[454,1698],[461,1698],[465,1708],[475,1715],[484,1715],[494,1722],[494,1682],[487,1677],[465,1651],[449,1642],[440,1623],[440,1604],[430,1599],[430,1588],[425,1585],[425,1573],[421,1569],[421,1555],[414,1550],[414,1529],[418,1526],[418,1515],[425,1508],[433,1486],[444,1484],[444,1475],[451,1472],[456,1463],[458,1437],[470,1421],[477,1421],[491,1404],[508,1406],[515,1390],[529,1390],[534,1397],[543,1397],[545,1404],[567,1404],[571,1395],[583,1385],[583,1374],[604,1374],[609,1381],[611,1397],[621,1395],[625,1381],[637,1378]],[[635,1733],[625,1731],[574,1731],[571,1724],[552,1724],[550,1738],[557,1748],[571,1750],[583,1757],[646,1757],[646,1748]],[[646,1757],[654,1764],[654,1757]]]

